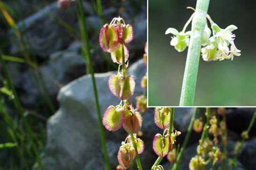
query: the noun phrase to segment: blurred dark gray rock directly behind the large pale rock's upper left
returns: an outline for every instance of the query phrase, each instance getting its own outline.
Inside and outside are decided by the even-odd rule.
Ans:
[[[79,48],[79,43],[74,42],[66,50],[51,54],[50,60],[40,67],[51,97],[56,97],[61,86],[85,74],[85,61],[79,54]],[[13,79],[15,78],[13,77]],[[38,88],[31,69],[17,77],[16,80],[19,80],[15,86],[22,90],[21,101],[24,105],[33,107],[35,101],[42,101],[41,104],[45,104],[42,100],[43,92],[38,90],[40,88]]]

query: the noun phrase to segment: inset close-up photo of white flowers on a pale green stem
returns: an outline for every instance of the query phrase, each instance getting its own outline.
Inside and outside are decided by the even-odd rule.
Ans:
[[[255,5],[149,0],[148,106],[256,106]]]

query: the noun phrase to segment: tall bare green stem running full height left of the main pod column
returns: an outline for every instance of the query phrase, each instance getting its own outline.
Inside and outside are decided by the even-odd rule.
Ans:
[[[85,21],[85,16],[84,16],[84,7],[83,7],[82,0],[78,0],[78,11],[79,11],[78,19],[79,19],[79,23],[80,23],[80,32],[81,32],[82,41],[83,41],[83,51],[84,51],[83,55],[84,55],[85,60],[87,59],[86,60],[86,66],[87,66],[86,69],[88,69],[88,68],[90,69],[89,72],[91,73],[91,77],[92,77],[92,86],[93,86],[95,105],[96,105],[98,123],[99,123],[99,129],[100,129],[101,146],[103,149],[103,155],[104,155],[104,160],[105,160],[105,168],[106,168],[106,170],[110,170],[104,128],[103,128],[102,119],[101,119],[101,115],[100,115],[100,104],[99,104],[99,99],[98,99],[98,92],[97,92],[97,87],[96,87],[96,82],[95,82],[95,77],[94,77],[94,70],[93,70],[93,66],[92,66],[92,54],[91,54],[90,48],[89,48],[89,38],[88,38],[87,29],[86,29],[86,21]]]

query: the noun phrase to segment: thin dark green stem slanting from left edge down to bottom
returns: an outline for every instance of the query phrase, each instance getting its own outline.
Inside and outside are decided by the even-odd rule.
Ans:
[[[1,61],[1,64],[2,64],[2,68],[3,68],[3,71],[4,71],[4,74],[6,75],[6,79],[7,79],[7,83],[8,83],[8,86],[9,88],[11,88],[13,94],[14,94],[14,106],[16,107],[16,109],[20,112],[21,114],[21,119],[22,119],[22,122],[24,122],[24,127],[25,127],[25,130],[26,132],[28,133],[28,139],[32,145],[32,150],[34,151],[35,155],[36,155],[36,160],[38,162],[38,165],[39,165],[39,168],[41,170],[44,170],[44,167],[43,167],[43,163],[42,163],[42,160],[40,158],[40,155],[39,155],[39,152],[38,150],[36,149],[36,144],[34,143],[34,140],[33,140],[33,133],[32,133],[32,130],[30,129],[30,126],[27,122],[27,119],[26,117],[24,116],[24,109],[22,108],[21,106],[21,103],[20,103],[20,100],[18,98],[18,95],[16,93],[16,90],[14,88],[14,84],[11,80],[11,77],[8,73],[8,70],[7,70],[7,66],[6,66],[6,63],[5,61],[3,60],[2,58],[2,52],[0,51],[0,61]]]

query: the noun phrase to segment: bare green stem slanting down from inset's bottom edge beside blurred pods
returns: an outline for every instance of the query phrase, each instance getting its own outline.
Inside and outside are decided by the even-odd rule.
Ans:
[[[178,156],[177,156],[177,161],[176,163],[174,163],[173,167],[172,167],[172,170],[178,170],[178,167],[179,167],[179,164],[180,164],[180,161],[181,161],[181,158],[184,154],[184,151],[185,151],[185,148],[189,142],[189,138],[191,136],[191,133],[192,133],[192,129],[193,129],[193,123],[194,123],[194,120],[195,120],[195,117],[196,117],[196,114],[197,114],[197,111],[198,111],[198,108],[195,109],[195,112],[190,120],[190,123],[189,123],[189,126],[188,126],[188,129],[187,129],[187,134],[185,136],[185,140],[184,142],[182,143],[182,147],[178,153]]]

